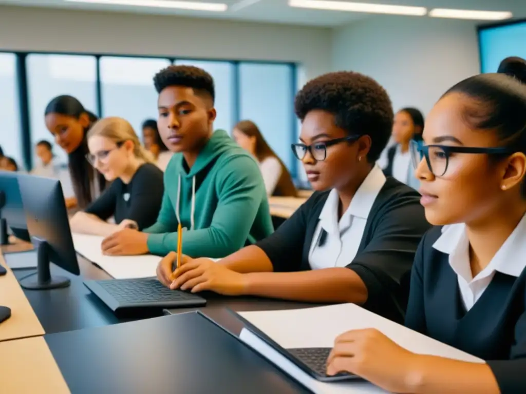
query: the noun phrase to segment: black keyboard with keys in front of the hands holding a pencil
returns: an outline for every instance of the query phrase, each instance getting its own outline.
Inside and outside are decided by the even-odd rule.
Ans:
[[[97,281],[117,302],[123,304],[177,302],[200,298],[195,294],[170,290],[155,278]]]

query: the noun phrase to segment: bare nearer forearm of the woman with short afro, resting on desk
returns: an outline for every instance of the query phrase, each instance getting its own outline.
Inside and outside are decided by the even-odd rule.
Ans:
[[[367,287],[351,269],[324,268],[246,274],[246,294],[301,302],[363,304]]]

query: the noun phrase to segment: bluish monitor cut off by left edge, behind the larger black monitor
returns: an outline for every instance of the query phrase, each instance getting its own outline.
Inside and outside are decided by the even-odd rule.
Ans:
[[[8,230],[18,239],[30,242],[22,196],[15,172],[0,171],[0,245],[7,245]]]

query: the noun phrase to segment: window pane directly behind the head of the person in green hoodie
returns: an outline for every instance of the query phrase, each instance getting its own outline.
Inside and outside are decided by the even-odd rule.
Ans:
[[[214,78],[217,111],[214,128],[230,133],[235,122],[234,65],[227,61],[206,60],[176,60],[175,64],[202,68]]]

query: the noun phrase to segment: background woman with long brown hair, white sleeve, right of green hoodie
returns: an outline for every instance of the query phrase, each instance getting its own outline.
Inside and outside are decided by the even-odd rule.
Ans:
[[[258,161],[268,195],[296,197],[296,186],[287,167],[269,147],[254,122],[238,122],[232,131],[232,138]]]

